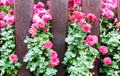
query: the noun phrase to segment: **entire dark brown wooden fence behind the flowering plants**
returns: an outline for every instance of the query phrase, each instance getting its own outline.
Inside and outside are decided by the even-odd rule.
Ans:
[[[46,2],[47,0],[41,1]],[[102,0],[82,0],[82,11],[94,13],[99,18],[101,1]],[[26,35],[29,35],[28,29],[30,28],[32,20],[33,2],[34,0],[15,0],[16,53],[20,62],[23,64],[22,68],[19,70],[18,76],[32,76],[29,70],[26,69],[26,63],[23,62],[23,57],[28,51],[27,46],[23,41]],[[118,0],[118,6],[118,20],[120,21],[120,0]],[[65,38],[67,35],[68,23],[68,0],[50,0],[50,11],[53,18],[53,49],[57,50],[60,61],[63,61],[67,48]],[[99,25],[99,23],[96,23],[95,25]],[[99,37],[99,26],[94,26],[91,33]],[[56,68],[58,69],[56,76],[66,76],[65,67],[61,63]],[[99,76],[98,68],[99,60],[97,59],[95,68],[91,70],[93,76]]]

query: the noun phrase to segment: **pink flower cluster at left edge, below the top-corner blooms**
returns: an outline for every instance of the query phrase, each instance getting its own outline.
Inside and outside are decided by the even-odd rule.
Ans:
[[[6,25],[6,23],[11,26],[14,25],[15,19],[14,19],[13,9],[11,9],[8,14],[5,14],[4,12],[0,12],[0,28],[3,28]]]

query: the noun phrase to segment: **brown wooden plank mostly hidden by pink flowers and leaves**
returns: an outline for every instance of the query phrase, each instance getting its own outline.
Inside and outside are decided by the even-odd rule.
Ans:
[[[93,13],[98,18],[100,18],[101,10],[101,0],[82,0],[82,11],[85,13]],[[91,34],[97,35],[99,37],[99,23],[95,23],[92,27]],[[99,76],[99,60],[95,62],[95,67],[91,70],[93,76]]]

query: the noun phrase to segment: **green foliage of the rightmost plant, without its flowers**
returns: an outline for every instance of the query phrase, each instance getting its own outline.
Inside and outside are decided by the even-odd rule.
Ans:
[[[101,64],[100,72],[106,73],[106,76],[119,76],[120,75],[120,30],[115,25],[114,20],[108,20],[107,18],[102,18],[100,20],[101,28],[101,40],[100,43],[107,45],[109,48],[109,53],[105,56],[110,56],[112,58],[111,65]]]

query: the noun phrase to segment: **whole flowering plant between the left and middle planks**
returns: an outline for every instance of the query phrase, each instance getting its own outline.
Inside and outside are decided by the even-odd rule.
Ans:
[[[24,57],[27,68],[35,76],[54,76],[59,64],[57,52],[52,49],[50,41],[53,35],[50,32],[52,17],[49,9],[46,10],[42,2],[34,4],[32,26],[29,29],[31,37],[26,37],[28,53]]]

